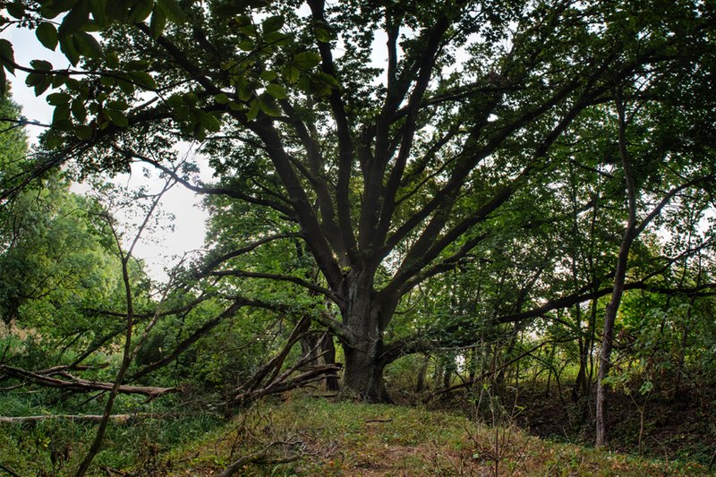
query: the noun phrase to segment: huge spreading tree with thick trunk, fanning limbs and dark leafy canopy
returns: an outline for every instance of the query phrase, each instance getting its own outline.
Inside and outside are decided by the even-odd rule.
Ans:
[[[29,72],[55,106],[45,154],[3,177],[3,198],[62,164],[158,168],[212,198],[221,231],[194,286],[241,289],[238,277],[322,297],[330,304],[312,318],[343,345],[346,393],[384,400],[383,370],[405,353],[611,292],[625,148],[637,222],[668,209],[657,225],[676,241],[626,287],[658,288],[710,243],[677,237],[712,207],[712,8],[13,2],[4,21],[34,29],[72,67],[16,64],[0,40],[4,69]],[[200,142],[213,182],[193,178],[199,161],[179,159],[180,141]],[[271,247],[302,266],[235,260]],[[482,280],[464,313],[415,316],[418,294],[469,295]]]

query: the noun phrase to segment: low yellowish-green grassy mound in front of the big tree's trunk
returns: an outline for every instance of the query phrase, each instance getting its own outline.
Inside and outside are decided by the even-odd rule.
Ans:
[[[292,396],[256,405],[201,441],[141,467],[171,475],[703,475],[705,465],[530,436],[515,423],[402,405]],[[139,468],[137,468],[138,470]]]

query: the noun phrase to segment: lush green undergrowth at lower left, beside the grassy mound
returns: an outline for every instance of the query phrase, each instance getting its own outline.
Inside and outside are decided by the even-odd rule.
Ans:
[[[146,403],[141,397],[119,396],[113,421],[94,460],[93,473],[107,475],[121,469],[141,469],[141,475],[161,475],[163,456],[186,443],[203,439],[224,425],[217,413],[182,405],[175,396]],[[39,390],[0,395],[0,416],[101,415],[101,395],[63,396]],[[38,422],[0,423],[0,476],[72,475],[90,448],[97,422],[54,417]]]

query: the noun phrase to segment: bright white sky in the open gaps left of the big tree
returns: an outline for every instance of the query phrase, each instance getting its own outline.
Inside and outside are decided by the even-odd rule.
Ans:
[[[59,52],[59,48],[56,52],[52,52],[40,45],[34,31],[10,27],[0,33],[0,38],[6,38],[13,43],[15,62],[18,64],[30,66],[30,60],[43,59],[52,63],[55,68],[69,66],[69,62]],[[12,83],[13,100],[22,107],[22,115],[30,121],[48,124],[52,118],[52,106],[47,105],[44,97],[37,98],[34,89],[25,86],[27,75],[24,72],[16,71],[15,74],[15,76],[8,74],[8,80]],[[37,140],[42,129],[37,126],[27,128],[31,142]],[[202,179],[207,180],[209,177],[202,177]],[[151,183],[141,170],[132,175],[119,176],[115,179],[115,183],[130,189],[149,183],[153,191],[158,191],[162,186],[162,183]],[[87,192],[88,189],[89,186],[86,184],[72,186],[72,191],[79,193]],[[174,257],[181,257],[185,252],[201,248],[208,216],[199,208],[200,200],[200,197],[180,185],[176,185],[164,196],[162,209],[175,216],[174,232],[165,228],[164,231],[153,236],[143,237],[135,249],[135,256],[147,262],[149,273],[153,278],[166,279],[164,268],[171,268],[176,261]],[[168,226],[168,223],[164,221],[163,225]],[[131,230],[127,230],[126,234],[133,235]]]

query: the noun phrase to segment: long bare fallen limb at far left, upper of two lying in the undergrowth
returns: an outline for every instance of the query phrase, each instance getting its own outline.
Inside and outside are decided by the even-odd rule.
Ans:
[[[61,371],[57,372],[56,375],[63,376],[69,380],[51,378],[47,375],[38,374],[32,371],[21,370],[20,368],[14,368],[13,366],[0,365],[0,374],[5,374],[13,378],[30,379],[40,386],[47,386],[48,388],[65,389],[67,391],[74,392],[87,392],[87,391],[110,391],[112,390],[112,383],[102,381],[88,381],[87,379],[79,379],[73,377],[71,374]],[[178,392],[179,388],[156,388],[149,386],[129,386],[123,385],[119,387],[119,392],[123,394],[139,394],[147,396],[149,399],[154,399],[158,396],[162,396],[167,393]]]

